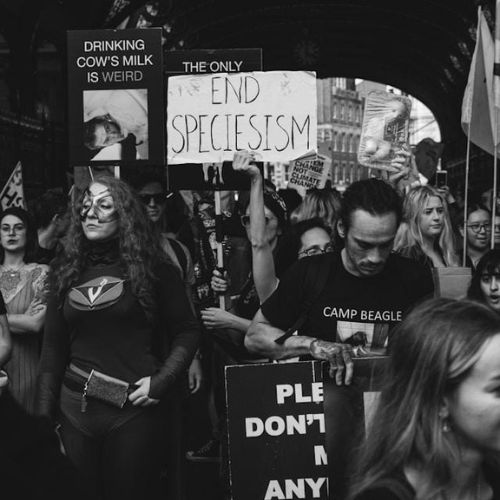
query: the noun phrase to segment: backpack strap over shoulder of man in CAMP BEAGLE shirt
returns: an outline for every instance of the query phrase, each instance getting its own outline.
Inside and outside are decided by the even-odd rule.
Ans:
[[[286,332],[275,339],[276,344],[283,344],[286,339],[290,338],[299,328],[301,328],[307,320],[309,311],[313,304],[319,299],[326,286],[326,282],[330,276],[330,272],[334,267],[334,260],[337,256],[328,255],[326,259],[311,259],[307,267],[306,276],[304,279],[304,289],[306,298],[302,304],[301,312],[295,323],[286,330]]]

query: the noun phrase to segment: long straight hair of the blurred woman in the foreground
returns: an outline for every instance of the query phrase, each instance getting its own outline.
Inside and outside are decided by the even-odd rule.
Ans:
[[[468,377],[482,347],[500,333],[500,317],[473,301],[432,299],[395,329],[386,380],[358,452],[349,498],[411,466],[421,471],[417,498],[442,498],[461,461],[453,431],[443,432],[443,404]],[[484,457],[498,464],[498,454]],[[497,465],[498,466],[498,465]]]

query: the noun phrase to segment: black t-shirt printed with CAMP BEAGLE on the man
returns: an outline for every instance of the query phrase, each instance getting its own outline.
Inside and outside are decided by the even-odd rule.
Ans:
[[[316,260],[315,259],[321,259]],[[333,259],[326,285],[309,309],[299,333],[316,338],[383,347],[389,330],[403,313],[426,296],[434,286],[430,270],[399,255],[391,254],[384,270],[358,277],[344,268],[341,253],[299,260],[280,281],[278,289],[262,305],[264,316],[278,328],[290,328],[310,294],[311,267]],[[309,279],[308,279],[309,278]]]

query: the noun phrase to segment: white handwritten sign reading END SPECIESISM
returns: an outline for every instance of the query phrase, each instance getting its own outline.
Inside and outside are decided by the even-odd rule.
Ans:
[[[168,79],[169,164],[290,161],[316,151],[316,76],[304,71],[182,75]]]

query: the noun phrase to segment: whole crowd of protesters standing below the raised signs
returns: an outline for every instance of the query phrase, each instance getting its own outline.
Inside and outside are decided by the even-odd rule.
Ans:
[[[408,174],[411,158],[397,161]],[[246,151],[233,169],[250,187],[226,193],[222,218],[213,193],[168,192],[161,172],[1,213],[0,419],[45,436],[75,495],[154,499],[166,477],[182,499],[186,456],[220,461],[228,484],[225,366],[321,360],[350,386],[353,360],[388,355],[339,498],[500,498],[491,196],[464,214],[448,187],[400,175],[297,199]],[[433,299],[433,270],[462,266],[463,250],[470,286]],[[202,387],[211,435],[187,451],[186,400]]]

